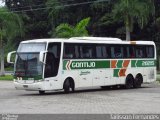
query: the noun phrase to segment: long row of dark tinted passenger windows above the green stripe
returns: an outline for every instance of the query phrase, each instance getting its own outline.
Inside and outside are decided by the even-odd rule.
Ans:
[[[52,48],[55,56],[57,49]],[[60,53],[58,53],[60,54]],[[115,45],[115,44],[82,44],[65,43],[64,59],[117,59],[117,58],[153,58],[153,45]]]

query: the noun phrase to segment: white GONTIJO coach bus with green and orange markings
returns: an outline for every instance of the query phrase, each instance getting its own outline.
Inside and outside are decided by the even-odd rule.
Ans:
[[[7,61],[14,64],[15,88],[40,94],[95,86],[139,88],[156,80],[153,41],[108,37],[28,40],[8,53]]]

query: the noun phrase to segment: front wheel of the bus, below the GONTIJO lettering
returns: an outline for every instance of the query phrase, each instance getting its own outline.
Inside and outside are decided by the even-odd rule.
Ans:
[[[67,78],[64,82],[63,89],[65,93],[74,92],[74,81],[73,79]]]

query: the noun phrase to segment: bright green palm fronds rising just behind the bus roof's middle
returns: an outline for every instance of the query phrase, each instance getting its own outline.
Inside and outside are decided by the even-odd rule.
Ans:
[[[89,21],[90,18],[85,18],[79,23],[77,23],[75,26],[69,25],[67,23],[60,24],[56,27],[55,36],[60,38],[88,36],[88,31],[86,30],[86,27],[89,24]]]

